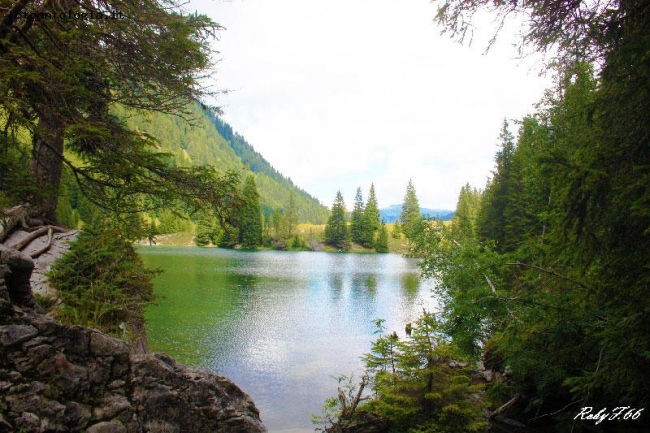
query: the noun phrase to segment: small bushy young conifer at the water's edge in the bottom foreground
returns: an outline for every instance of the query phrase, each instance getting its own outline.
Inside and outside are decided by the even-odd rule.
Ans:
[[[363,425],[366,420],[381,420],[382,431],[395,433],[485,430],[482,386],[472,384],[469,363],[458,361],[458,350],[441,333],[433,314],[424,311],[413,324],[411,337],[404,340],[396,333],[386,334],[383,320],[375,325],[379,336],[362,357],[373,395],[357,398],[361,404],[354,416],[343,416],[341,410],[351,406],[350,399],[329,399],[330,418],[336,409],[339,418],[327,431]],[[347,387],[352,387],[348,396],[359,395],[351,381]],[[345,431],[355,431],[350,428]]]

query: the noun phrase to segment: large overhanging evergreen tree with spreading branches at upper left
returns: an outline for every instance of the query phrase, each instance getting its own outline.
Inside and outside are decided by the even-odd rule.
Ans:
[[[22,145],[30,131],[33,216],[55,221],[62,168],[83,193],[118,213],[183,201],[226,209],[236,180],[210,168],[179,168],[156,151],[155,140],[110,114],[117,103],[140,110],[187,114],[209,94],[201,85],[210,66],[210,39],[219,26],[204,15],[179,13],[175,0],[112,1],[124,19],[34,18],[78,12],[103,15],[106,2],[4,2],[0,8],[0,129],[2,147]],[[10,5],[11,4],[11,5]],[[6,6],[6,7],[5,7]],[[77,12],[72,10],[72,12]]]

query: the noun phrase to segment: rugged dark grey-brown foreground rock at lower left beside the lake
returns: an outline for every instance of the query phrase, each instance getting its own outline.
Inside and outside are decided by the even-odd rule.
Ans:
[[[0,432],[266,431],[232,381],[35,312],[32,268],[0,245]]]

